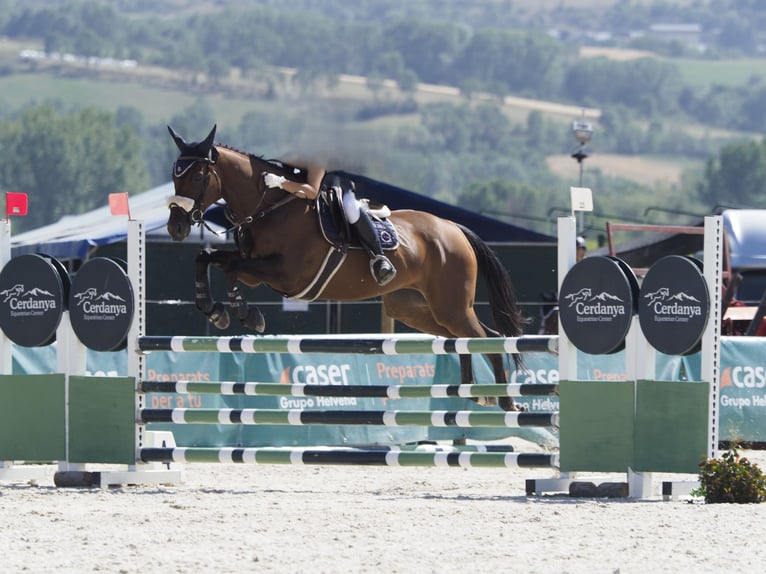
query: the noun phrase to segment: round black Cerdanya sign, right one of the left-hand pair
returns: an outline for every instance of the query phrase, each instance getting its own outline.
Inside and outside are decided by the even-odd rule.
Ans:
[[[133,321],[133,287],[125,263],[96,257],[72,280],[69,320],[83,345],[94,351],[119,351],[127,345]]]

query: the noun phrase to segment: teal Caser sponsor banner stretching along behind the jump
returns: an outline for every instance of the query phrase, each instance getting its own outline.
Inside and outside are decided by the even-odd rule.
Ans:
[[[722,337],[719,393],[720,439],[766,441],[766,340],[756,337]],[[55,372],[55,346],[14,346],[16,374]],[[557,383],[558,360],[547,353],[525,355],[527,370],[510,370],[511,383]],[[578,357],[577,378],[591,381],[624,381],[624,351],[613,355]],[[699,354],[685,357],[657,354],[658,380],[695,381],[700,378]],[[457,384],[460,378],[455,355],[308,355],[238,353],[151,353],[146,357],[149,380],[284,382],[327,385]],[[125,376],[125,352],[87,355],[87,375]],[[474,356],[476,383],[493,383],[487,360]],[[517,403],[531,412],[559,410],[557,397],[519,397]],[[379,399],[317,397],[243,397],[219,395],[150,394],[147,408],[266,408],[348,410],[485,410],[468,399]],[[152,425],[154,428],[154,425]],[[156,425],[170,428],[170,425]],[[519,436],[551,444],[556,434],[544,428],[461,429],[454,427],[353,427],[311,426],[247,427],[237,425],[186,425],[173,427],[183,446],[347,445],[405,444],[424,440],[468,437],[493,440]]]

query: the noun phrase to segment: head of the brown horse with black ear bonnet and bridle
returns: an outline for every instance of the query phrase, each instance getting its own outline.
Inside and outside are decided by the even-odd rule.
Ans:
[[[208,207],[221,198],[221,179],[213,168],[218,150],[213,146],[216,126],[201,142],[187,143],[168,126],[181,154],[173,163],[173,185],[176,194],[168,198],[170,216],[168,233],[175,241],[188,237],[192,224],[202,223]],[[214,177],[211,177],[214,176]],[[215,180],[213,183],[211,180]]]

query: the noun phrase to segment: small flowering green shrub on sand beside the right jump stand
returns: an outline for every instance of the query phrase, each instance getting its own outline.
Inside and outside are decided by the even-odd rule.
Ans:
[[[704,496],[707,503],[766,500],[766,476],[736,449],[724,452],[720,459],[704,460],[699,466],[700,487],[692,491],[693,496]]]

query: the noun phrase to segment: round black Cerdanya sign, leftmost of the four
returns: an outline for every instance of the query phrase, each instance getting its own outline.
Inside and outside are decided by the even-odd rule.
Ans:
[[[69,275],[52,257],[20,255],[0,272],[0,328],[22,347],[56,340],[69,295]]]

